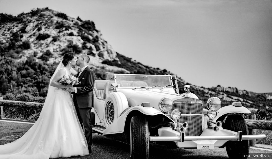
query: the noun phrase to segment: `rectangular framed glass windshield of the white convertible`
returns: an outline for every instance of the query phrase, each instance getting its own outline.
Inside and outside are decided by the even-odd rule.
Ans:
[[[115,74],[115,82],[120,85],[119,87],[172,88],[171,75]]]

